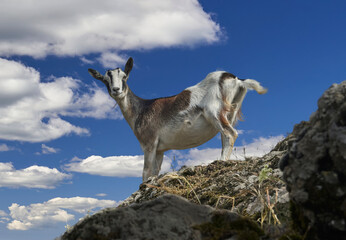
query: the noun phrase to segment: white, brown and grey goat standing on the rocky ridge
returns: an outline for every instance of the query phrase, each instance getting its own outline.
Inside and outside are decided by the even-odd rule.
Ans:
[[[136,96],[127,84],[133,67],[129,58],[124,71],[88,69],[101,80],[117,102],[144,152],[143,181],[158,175],[164,152],[199,146],[221,133],[221,160],[228,160],[238,137],[234,125],[248,89],[264,94],[267,89],[252,79],[238,79],[224,71],[212,72],[181,93],[156,99]]]

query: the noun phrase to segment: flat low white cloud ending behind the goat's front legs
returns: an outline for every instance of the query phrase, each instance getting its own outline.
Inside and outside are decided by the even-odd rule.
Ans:
[[[74,159],[65,165],[65,170],[109,177],[142,177],[144,156],[90,156],[86,159]],[[164,157],[161,172],[170,169],[170,159]]]

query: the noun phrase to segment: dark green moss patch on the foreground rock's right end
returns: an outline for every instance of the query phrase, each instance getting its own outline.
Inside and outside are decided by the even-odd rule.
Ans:
[[[263,230],[249,218],[217,212],[211,222],[194,226],[206,240],[226,239],[234,235],[240,240],[255,240],[264,236]]]

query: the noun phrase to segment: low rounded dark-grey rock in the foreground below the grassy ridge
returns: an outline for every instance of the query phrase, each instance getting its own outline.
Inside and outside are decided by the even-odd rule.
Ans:
[[[77,223],[61,240],[84,239],[259,239],[264,232],[227,210],[163,195],[129,207],[106,209]]]

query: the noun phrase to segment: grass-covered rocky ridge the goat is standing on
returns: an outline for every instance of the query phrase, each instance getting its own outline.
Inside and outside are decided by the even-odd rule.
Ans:
[[[246,161],[217,160],[206,166],[182,167],[177,172],[151,178],[120,207],[171,193],[196,204],[232,210],[255,220],[268,213],[265,211],[269,211],[269,205],[275,205],[281,210],[278,214],[282,215],[282,222],[286,222],[289,198],[278,162],[287,152],[289,139],[280,142],[263,157],[247,158]],[[262,223],[269,220],[262,216]]]

